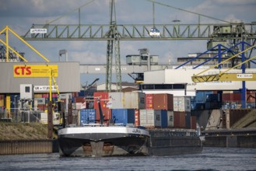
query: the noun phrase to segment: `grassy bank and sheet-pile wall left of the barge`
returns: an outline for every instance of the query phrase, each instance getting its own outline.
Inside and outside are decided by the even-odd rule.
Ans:
[[[58,152],[57,134],[47,138],[47,125],[0,122],[0,155]]]

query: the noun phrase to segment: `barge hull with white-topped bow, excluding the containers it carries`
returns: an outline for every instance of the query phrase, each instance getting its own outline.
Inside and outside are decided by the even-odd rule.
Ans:
[[[195,131],[103,126],[66,127],[58,131],[61,156],[180,155],[202,152]]]

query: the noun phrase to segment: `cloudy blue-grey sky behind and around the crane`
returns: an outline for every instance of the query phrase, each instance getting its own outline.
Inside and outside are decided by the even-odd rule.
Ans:
[[[255,0],[155,0],[155,2],[164,4],[155,4],[156,24],[171,24],[174,23],[174,19],[179,19],[181,24],[198,23],[198,16],[191,12],[237,23],[256,21]],[[191,12],[173,9],[168,5]],[[0,30],[9,26],[22,36],[30,30],[33,23],[78,24],[79,12],[75,9],[79,7],[81,7],[81,24],[109,23],[109,0],[1,0]],[[115,9],[117,24],[153,24],[153,3],[150,1],[115,0]],[[60,16],[63,17],[58,19]],[[206,17],[201,17],[200,22],[219,23],[218,20]],[[5,40],[4,35],[0,35],[0,38]],[[30,40],[29,43],[50,61],[58,61],[59,50],[65,49],[68,51],[68,61],[79,61],[83,65],[106,64],[107,41]],[[17,51],[24,52],[28,61],[41,60],[15,37],[9,37],[9,44]],[[126,55],[139,54],[138,50],[145,47],[149,49],[150,54],[159,55],[160,64],[175,64],[178,57],[186,57],[188,54],[207,50],[205,40],[128,40],[121,41],[120,46],[123,65]],[[93,82],[96,78],[100,78],[100,83],[105,82],[105,75],[87,74],[81,75],[81,84]],[[122,75],[122,81],[133,82],[128,75]]]

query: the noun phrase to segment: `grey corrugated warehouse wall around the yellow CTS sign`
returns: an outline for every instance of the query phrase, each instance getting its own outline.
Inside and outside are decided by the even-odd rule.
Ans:
[[[79,62],[5,62],[0,63],[0,93],[19,93],[20,84],[49,86],[49,78],[14,78],[13,65],[58,65],[58,78],[55,78],[60,92],[80,91]],[[52,85],[54,83],[52,82]]]

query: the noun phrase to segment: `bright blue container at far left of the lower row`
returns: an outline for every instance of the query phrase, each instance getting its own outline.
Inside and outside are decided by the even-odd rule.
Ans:
[[[96,110],[94,109],[82,109],[80,110],[80,124],[95,123]]]

